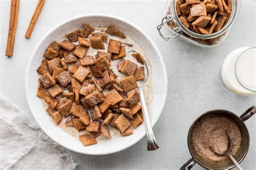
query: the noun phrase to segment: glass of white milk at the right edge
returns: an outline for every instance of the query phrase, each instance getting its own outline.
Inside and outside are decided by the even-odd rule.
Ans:
[[[241,47],[224,60],[221,77],[227,88],[242,96],[256,94],[256,47]]]

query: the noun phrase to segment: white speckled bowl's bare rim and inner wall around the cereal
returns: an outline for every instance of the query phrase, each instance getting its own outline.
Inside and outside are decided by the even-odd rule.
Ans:
[[[66,35],[66,33],[75,30],[75,26],[82,28],[84,23],[88,23],[92,26],[117,25],[127,36],[131,37],[142,47],[152,65],[153,99],[151,107],[149,108],[149,113],[152,126],[156,124],[161,112],[163,111],[167,96],[167,73],[163,58],[161,57],[157,46],[145,32],[138,28],[138,26],[125,21],[122,18],[111,15],[90,14],[77,16],[67,19],[49,31],[37,44],[30,57],[25,80],[26,98],[28,100],[31,113],[38,125],[59,145],[83,154],[103,155],[115,153],[136,144],[136,142],[142,139],[145,135],[144,125],[136,128],[133,135],[128,137],[115,137],[109,140],[99,141],[97,145],[84,147],[79,139],[64,132],[52,122],[50,116],[45,112],[42,100],[36,96],[39,78],[39,74],[36,69],[41,64],[46,47],[53,40],[60,40],[60,38]],[[145,141],[145,149],[146,145],[147,143]]]

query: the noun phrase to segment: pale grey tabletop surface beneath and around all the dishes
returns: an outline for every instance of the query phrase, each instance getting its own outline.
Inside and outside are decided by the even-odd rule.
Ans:
[[[146,138],[125,151],[89,156],[68,151],[79,162],[78,169],[178,169],[191,158],[187,132],[192,121],[207,110],[223,108],[236,114],[256,105],[256,97],[242,97],[227,90],[220,77],[225,57],[238,47],[256,46],[256,6],[242,1],[241,11],[225,42],[204,49],[158,35],[166,1],[46,1],[31,39],[24,35],[37,1],[21,1],[14,57],[4,56],[8,34],[10,1],[0,1],[0,89],[1,94],[29,112],[25,98],[26,65],[38,40],[59,22],[84,13],[109,13],[123,17],[142,28],[158,46],[167,69],[169,86],[164,111],[153,128],[160,149],[146,151]],[[245,169],[255,169],[255,116],[246,121],[251,146],[242,162]],[[194,169],[201,169],[198,165]]]

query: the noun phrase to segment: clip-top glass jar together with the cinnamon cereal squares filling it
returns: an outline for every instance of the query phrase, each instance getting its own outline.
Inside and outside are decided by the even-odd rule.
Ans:
[[[240,0],[169,0],[159,34],[165,40],[179,37],[198,46],[217,46],[232,28],[240,5]],[[163,35],[164,25],[171,35]]]

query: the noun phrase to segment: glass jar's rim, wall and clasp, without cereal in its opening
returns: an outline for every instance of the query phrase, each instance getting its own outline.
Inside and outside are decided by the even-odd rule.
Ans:
[[[186,26],[180,22],[176,10],[176,1],[177,0],[169,0],[167,2],[164,10],[164,18],[161,24],[157,26],[159,35],[166,41],[170,38],[178,37],[185,40],[185,42],[201,47],[215,47],[224,41],[237,18],[241,6],[241,0],[232,0],[232,12],[225,26],[210,35],[203,35],[187,29]],[[161,28],[164,25],[166,25],[166,28],[171,32],[171,35],[167,37],[161,32]]]

